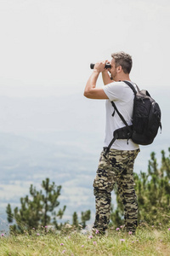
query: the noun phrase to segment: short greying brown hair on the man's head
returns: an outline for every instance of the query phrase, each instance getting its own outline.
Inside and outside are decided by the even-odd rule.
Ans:
[[[113,53],[111,57],[114,58],[116,67],[122,66],[122,70],[124,73],[131,72],[131,68],[133,67],[133,60],[131,55],[128,55],[123,51],[120,51]]]

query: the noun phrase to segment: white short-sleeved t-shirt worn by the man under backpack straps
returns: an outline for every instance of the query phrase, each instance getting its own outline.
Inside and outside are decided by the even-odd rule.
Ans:
[[[133,84],[133,86],[136,89],[136,85]],[[105,91],[106,96],[109,98],[109,100],[106,100],[105,102],[106,123],[104,143],[104,147],[108,147],[113,138],[113,131],[125,126],[116,111],[114,116],[112,116],[114,108],[111,104],[111,101],[115,102],[116,108],[120,113],[122,113],[122,116],[127,121],[127,124],[132,125],[134,93],[133,90],[122,81],[107,84],[102,88]],[[139,148],[139,145],[133,143],[131,139],[128,140],[128,144],[127,139],[117,139],[115,143],[112,144],[111,148],[115,148],[117,150],[134,150]]]

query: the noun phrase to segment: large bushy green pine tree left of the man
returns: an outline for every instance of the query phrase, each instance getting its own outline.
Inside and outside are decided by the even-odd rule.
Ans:
[[[60,195],[61,186],[56,186],[54,183],[49,183],[49,178],[42,181],[42,189],[37,191],[31,184],[30,195],[26,195],[25,198],[20,198],[20,209],[14,208],[12,212],[10,204],[7,207],[8,223],[11,225],[11,230],[16,232],[23,232],[24,230],[30,230],[31,228],[37,229],[39,226],[47,226],[48,224],[54,224],[59,228],[57,223],[57,217],[62,218],[65,212],[65,206],[63,209],[59,209],[59,212],[55,212],[55,208],[59,207],[58,197]],[[54,216],[53,221],[51,221]]]

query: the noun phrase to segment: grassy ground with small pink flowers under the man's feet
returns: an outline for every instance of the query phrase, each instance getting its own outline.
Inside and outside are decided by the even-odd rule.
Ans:
[[[31,235],[0,234],[0,255],[94,255],[133,256],[170,255],[168,227],[139,227],[136,235],[109,230],[105,236],[92,236],[71,227],[56,234],[54,230],[32,230]],[[2,236],[4,235],[4,236]]]

